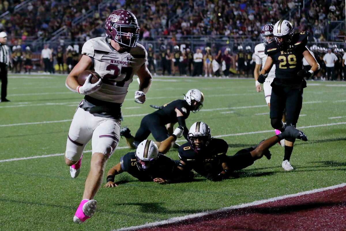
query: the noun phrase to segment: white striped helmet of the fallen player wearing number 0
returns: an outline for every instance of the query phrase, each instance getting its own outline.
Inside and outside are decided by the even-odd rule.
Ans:
[[[211,140],[210,127],[206,123],[195,122],[189,129],[188,140],[194,150],[205,148]]]

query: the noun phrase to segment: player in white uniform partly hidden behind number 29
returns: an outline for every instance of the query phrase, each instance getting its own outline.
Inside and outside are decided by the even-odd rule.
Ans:
[[[261,37],[263,39],[263,43],[257,44],[255,46],[255,70],[254,70],[254,77],[255,77],[255,86],[256,91],[261,92],[261,84],[257,81],[258,76],[260,75],[260,69],[264,67],[264,63],[267,60],[268,55],[264,53],[265,46],[272,43],[274,41],[273,37],[273,24],[266,24],[261,30]],[[270,96],[272,94],[272,82],[275,78],[275,66],[272,66],[270,71],[268,72],[267,78],[265,79],[265,82],[263,83],[263,91],[264,91],[264,98],[267,102],[267,105],[270,108]],[[282,115],[282,121],[285,122],[285,114]],[[275,129],[275,134],[280,134],[280,131]],[[280,141],[281,146],[285,146],[285,140]]]

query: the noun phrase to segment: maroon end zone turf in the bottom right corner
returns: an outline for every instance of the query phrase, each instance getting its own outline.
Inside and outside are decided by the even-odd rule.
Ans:
[[[138,230],[345,231],[346,187]]]

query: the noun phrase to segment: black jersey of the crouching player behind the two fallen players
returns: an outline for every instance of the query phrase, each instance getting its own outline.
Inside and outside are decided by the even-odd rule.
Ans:
[[[177,99],[168,104],[164,104],[161,109],[158,109],[153,114],[160,116],[160,122],[162,124],[176,123],[178,120],[176,117],[175,108],[180,110],[184,119],[189,117],[190,105],[188,105],[188,103],[183,99]]]

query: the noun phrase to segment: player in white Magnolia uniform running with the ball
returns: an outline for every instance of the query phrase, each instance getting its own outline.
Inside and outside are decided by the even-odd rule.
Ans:
[[[96,210],[93,199],[99,190],[104,167],[115,151],[122,121],[121,105],[134,74],[140,80],[135,101],[143,104],[152,76],[146,67],[147,52],[138,44],[139,26],[133,13],[115,10],[106,19],[106,37],[92,38],[82,48],[82,57],[66,78],[66,87],[85,95],[74,114],[66,144],[65,162],[72,178],[79,175],[85,145],[92,139],[91,167],[82,201],[73,217],[75,223],[89,219]],[[77,77],[95,70],[102,79],[83,85]],[[78,183],[78,182],[76,182]]]

